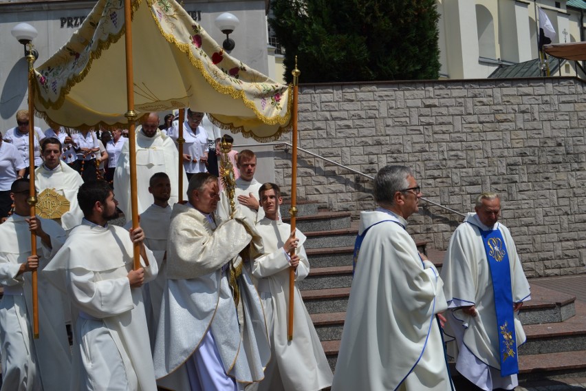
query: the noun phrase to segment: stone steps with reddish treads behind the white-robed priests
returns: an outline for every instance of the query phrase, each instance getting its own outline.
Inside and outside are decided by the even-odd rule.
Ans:
[[[283,204],[283,221],[289,222]],[[299,282],[305,306],[332,370],[336,366],[352,281],[352,252],[358,222],[349,212],[329,212],[318,203],[298,202],[296,226],[306,236],[311,271]],[[417,243],[441,268],[444,252]],[[586,374],[586,304],[575,297],[531,284],[532,300],[521,311],[527,342],[519,348],[521,384],[536,379]],[[453,374],[457,372],[452,371]]]

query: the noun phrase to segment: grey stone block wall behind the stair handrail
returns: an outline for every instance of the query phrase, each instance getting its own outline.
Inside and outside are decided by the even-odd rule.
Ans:
[[[473,211],[503,200],[529,277],[586,273],[586,90],[577,78],[301,85],[299,147],[374,176],[413,169],[424,197]],[[290,136],[287,136],[290,137]],[[285,137],[285,140],[287,138]],[[287,151],[276,182],[290,192]],[[371,180],[299,153],[300,198],[332,211],[373,209]],[[463,218],[421,202],[415,240],[445,249]]]

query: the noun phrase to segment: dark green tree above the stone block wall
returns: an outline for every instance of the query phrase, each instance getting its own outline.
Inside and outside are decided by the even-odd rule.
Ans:
[[[303,83],[439,77],[435,0],[271,0],[285,48],[285,79],[298,57]]]

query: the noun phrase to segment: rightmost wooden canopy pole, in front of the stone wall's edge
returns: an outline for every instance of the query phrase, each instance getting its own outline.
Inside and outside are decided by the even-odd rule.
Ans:
[[[297,215],[297,94],[299,85],[299,75],[301,71],[297,69],[297,56],[295,56],[295,69],[292,70],[293,75],[293,134],[292,145],[293,151],[291,156],[291,233],[295,233],[295,216]],[[295,250],[291,251],[290,255],[295,255]],[[289,268],[289,316],[287,322],[287,339],[293,340],[293,302],[294,302],[294,288],[295,288],[295,268]]]

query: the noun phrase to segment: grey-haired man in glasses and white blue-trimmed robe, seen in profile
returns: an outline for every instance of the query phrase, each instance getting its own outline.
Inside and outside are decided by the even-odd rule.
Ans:
[[[387,166],[374,178],[379,208],[360,213],[332,390],[451,390],[436,319],[445,320],[447,307],[442,279],[406,231],[421,197],[407,167]]]

